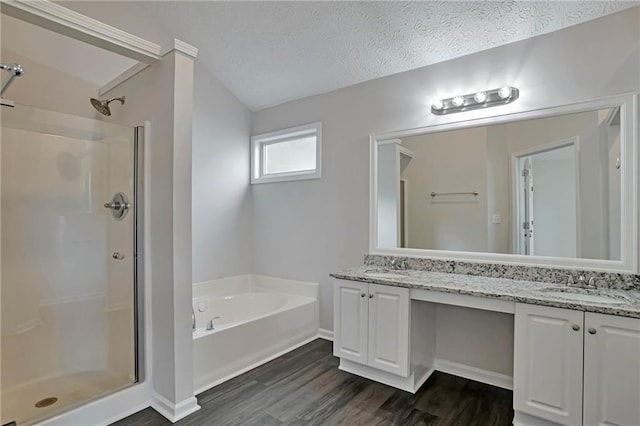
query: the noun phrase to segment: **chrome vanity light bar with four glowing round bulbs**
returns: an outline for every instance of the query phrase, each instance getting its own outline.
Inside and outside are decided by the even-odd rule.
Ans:
[[[509,104],[520,96],[520,91],[512,86],[499,89],[480,91],[468,95],[458,95],[453,98],[440,99],[431,105],[431,112],[437,115],[452,112],[470,111],[472,109],[487,108]]]

